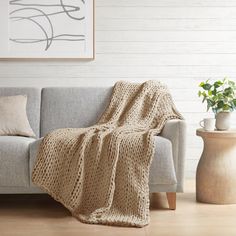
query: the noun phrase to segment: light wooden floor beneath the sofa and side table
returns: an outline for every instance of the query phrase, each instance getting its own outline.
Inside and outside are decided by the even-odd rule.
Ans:
[[[187,181],[176,211],[166,209],[165,194],[155,194],[151,223],[142,229],[82,224],[46,195],[0,195],[0,236],[235,236],[236,205],[196,203],[194,191]]]

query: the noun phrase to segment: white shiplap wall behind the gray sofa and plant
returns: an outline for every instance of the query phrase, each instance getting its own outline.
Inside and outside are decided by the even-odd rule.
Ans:
[[[236,1],[95,0],[96,60],[0,61],[0,86],[106,86],[157,79],[188,123],[188,177],[195,175],[206,114],[201,80],[236,78]]]

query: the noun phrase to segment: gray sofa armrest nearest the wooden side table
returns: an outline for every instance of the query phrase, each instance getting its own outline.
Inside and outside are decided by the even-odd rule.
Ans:
[[[172,143],[172,152],[177,178],[177,192],[183,192],[186,151],[186,122],[184,120],[167,121],[160,136],[169,139]]]

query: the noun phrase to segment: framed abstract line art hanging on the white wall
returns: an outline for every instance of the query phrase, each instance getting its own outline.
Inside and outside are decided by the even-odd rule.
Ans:
[[[94,58],[93,0],[1,0],[0,58]]]

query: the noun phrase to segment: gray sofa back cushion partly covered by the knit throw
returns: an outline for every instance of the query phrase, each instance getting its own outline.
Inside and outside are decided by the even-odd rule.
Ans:
[[[112,87],[43,88],[41,137],[59,128],[83,128],[96,123],[110,101]]]

